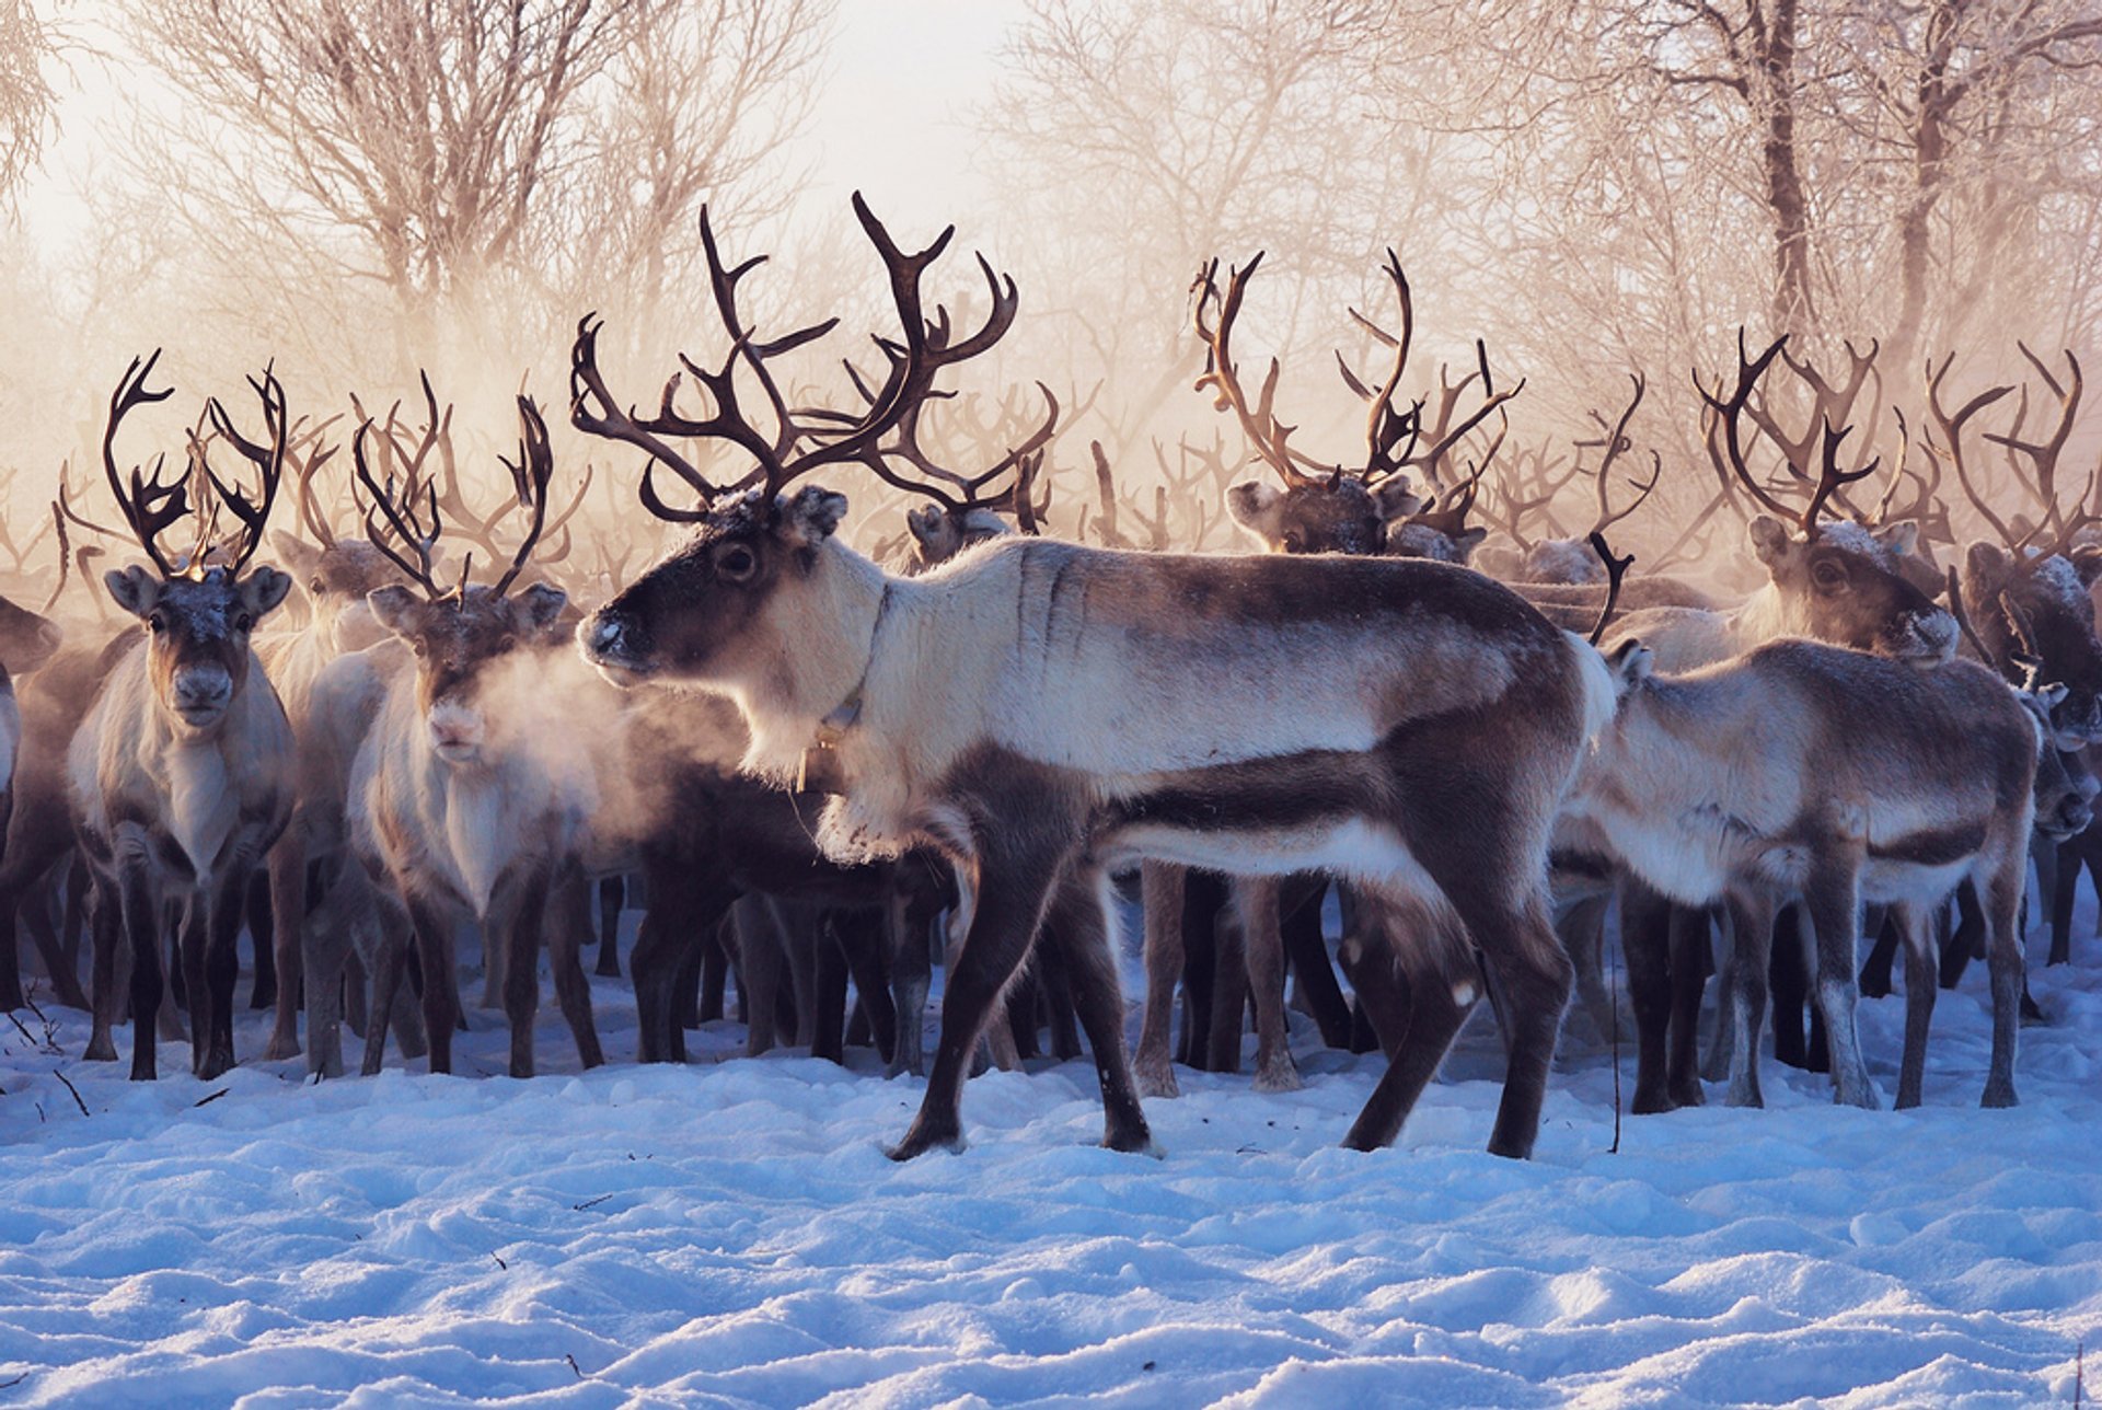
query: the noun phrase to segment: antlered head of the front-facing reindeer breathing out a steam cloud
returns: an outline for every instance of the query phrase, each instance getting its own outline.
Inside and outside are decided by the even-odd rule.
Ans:
[[[366,460],[370,420],[351,441],[357,483],[372,498],[366,536],[423,588],[418,595],[401,584],[380,586],[366,595],[366,603],[374,620],[416,654],[416,706],[429,729],[431,750],[454,767],[481,763],[502,744],[504,710],[490,698],[490,683],[504,664],[517,660],[517,651],[559,639],[557,622],[570,601],[561,588],[544,584],[509,595],[547,527],[547,492],[555,475],[540,410],[530,397],[519,397],[517,406],[519,458],[502,464],[511,473],[515,502],[528,515],[528,527],[511,565],[488,586],[469,582],[473,555],[462,561],[454,586],[437,584],[435,553],[444,532],[437,488],[418,479],[414,469],[399,490],[393,477],[383,485]],[[418,498],[425,500],[423,506]]]

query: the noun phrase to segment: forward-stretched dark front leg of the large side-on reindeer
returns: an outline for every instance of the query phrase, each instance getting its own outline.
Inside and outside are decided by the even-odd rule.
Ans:
[[[963,1078],[971,1051],[1030,954],[1051,880],[1064,872],[1064,851],[1072,845],[1068,841],[1053,851],[1043,843],[1026,847],[998,836],[980,836],[977,843],[984,851],[975,866],[971,933],[942,998],[933,1074],[919,1116],[889,1152],[891,1160],[910,1160],[937,1145],[963,1149]]]

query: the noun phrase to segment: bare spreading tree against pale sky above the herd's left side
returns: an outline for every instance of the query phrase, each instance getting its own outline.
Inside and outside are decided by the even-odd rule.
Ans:
[[[309,292],[378,286],[397,364],[448,319],[515,347],[521,317],[547,334],[572,313],[544,294],[580,269],[662,290],[698,202],[797,120],[784,88],[828,15],[828,0],[168,0],[141,48],[191,105],[149,113],[141,147],[221,269],[282,258]]]

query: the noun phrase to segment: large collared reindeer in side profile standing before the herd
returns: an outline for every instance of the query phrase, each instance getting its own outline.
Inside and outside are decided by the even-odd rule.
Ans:
[[[969,1053],[1047,910],[1101,975],[1076,981],[1076,1000],[1106,1139],[1150,1143],[1104,916],[1074,897],[1104,868],[1162,857],[1337,870],[1373,897],[1448,910],[1507,1019],[1511,1067],[1490,1149],[1526,1156],[1568,998],[1547,920],[1547,832],[1576,754],[1610,714],[1602,660],[1505,588],[1438,563],[1196,559],[1017,538],[925,578],[889,578],[834,538],[843,496],[790,483],[853,458],[969,340],[952,343],[948,317],[929,319],[919,294],[950,235],[906,254],[860,198],[856,214],[900,315],[874,406],[782,460],[740,406],[750,338],[736,338],[719,370],[700,370],[715,403],[702,418],[671,395],[647,422],[589,408],[584,420],[622,422],[652,469],[673,469],[708,506],[685,511],[692,540],[586,618],[578,641],[618,683],[727,693],[750,723],[744,763],[757,773],[788,782],[826,756],[839,790],[820,822],[828,847],[883,855],[929,843],[967,876],[971,935],[948,979],[927,1097],[893,1154],[961,1143]],[[986,273],[996,303],[1011,303],[1011,284]],[[725,496],[666,437],[738,445],[757,483]],[[647,481],[645,498],[681,513]],[[929,679],[944,689],[929,693]],[[1410,948],[1406,960],[1413,1021],[1349,1133],[1358,1147],[1394,1139],[1478,996],[1465,946]]]

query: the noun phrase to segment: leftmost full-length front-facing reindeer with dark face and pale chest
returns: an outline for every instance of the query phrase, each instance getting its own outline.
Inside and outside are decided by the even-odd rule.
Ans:
[[[107,574],[109,595],[141,622],[141,641],[109,672],[67,754],[76,834],[95,872],[95,1034],[88,1057],[116,1059],[116,941],[132,954],[132,1080],[151,1080],[162,998],[162,941],[174,918],[189,994],[191,1070],[217,1078],[233,1065],[235,941],[248,876],[292,811],[292,731],[250,647],[256,622],[290,590],[273,567],[242,574],[284,473],[284,389],[271,372],[250,378],[263,399],[267,443],[242,437],[225,408],[206,401],[212,439],[229,441],[261,475],[250,500],[219,479],[208,439],[193,435],[185,477],[162,483],[116,466],[126,412],[166,401],[149,391],[160,353],[135,357],[109,397],[103,469],[124,519],[153,567]],[[217,509],[240,519],[231,548],[214,542]],[[198,542],[179,565],[160,536],[198,517]],[[225,565],[206,567],[214,548]]]

